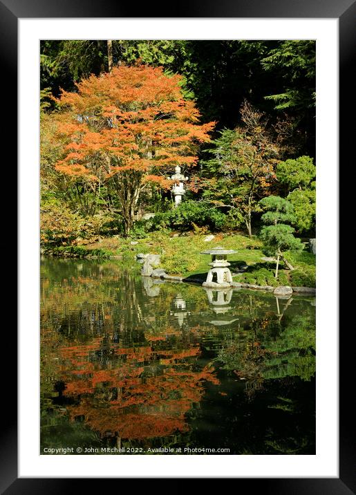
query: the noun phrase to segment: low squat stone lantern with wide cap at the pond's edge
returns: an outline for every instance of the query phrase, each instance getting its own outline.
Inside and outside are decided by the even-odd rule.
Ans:
[[[209,251],[202,251],[200,254],[211,254],[212,263],[209,263],[212,268],[210,268],[207,279],[203,282],[203,287],[210,288],[227,288],[231,287],[232,284],[232,274],[229,270],[230,263],[227,261],[227,254],[234,254],[237,251],[226,250],[221,246],[216,246],[216,248]],[[215,280],[214,280],[215,279]]]

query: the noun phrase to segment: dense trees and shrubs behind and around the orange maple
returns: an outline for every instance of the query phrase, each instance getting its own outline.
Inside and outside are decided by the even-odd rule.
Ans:
[[[213,231],[252,235],[261,224],[259,201],[271,194],[292,203],[297,235],[315,234],[315,41],[51,40],[41,41],[40,51],[42,243],[187,229],[193,219]],[[56,119],[62,90],[76,93],[90,75],[137,64],[182,76],[182,97],[195,102],[201,124],[215,125],[196,151],[196,167],[183,170],[190,180],[181,211],[173,212],[169,189],[154,183],[125,229],[124,205],[109,181],[93,187],[57,166],[66,142]],[[259,165],[251,171],[241,153],[254,153]],[[145,212],[156,216],[144,223]]]

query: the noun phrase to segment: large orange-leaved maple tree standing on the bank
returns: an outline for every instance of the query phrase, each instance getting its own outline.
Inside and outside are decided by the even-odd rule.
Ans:
[[[196,165],[198,145],[209,141],[215,122],[199,123],[193,101],[182,96],[182,77],[162,67],[120,66],[91,75],[77,91],[62,91],[58,132],[67,142],[55,167],[89,183],[110,181],[120,200],[124,232],[142,190],[169,187],[172,167]]]

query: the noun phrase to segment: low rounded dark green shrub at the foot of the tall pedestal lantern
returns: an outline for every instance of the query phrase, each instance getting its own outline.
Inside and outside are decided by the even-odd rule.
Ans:
[[[184,201],[178,208],[156,214],[152,218],[151,230],[159,230],[161,228],[189,230],[195,224],[198,227],[207,226],[213,231],[220,231],[223,230],[225,222],[226,215],[217,208],[207,203]]]

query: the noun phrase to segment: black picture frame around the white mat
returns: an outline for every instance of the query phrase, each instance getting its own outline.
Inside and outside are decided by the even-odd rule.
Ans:
[[[137,16],[140,12],[140,16]],[[355,109],[355,79],[351,77],[355,66],[356,52],[356,3],[353,0],[190,0],[189,2],[169,3],[167,6],[154,8],[152,3],[145,3],[139,8],[133,3],[101,0],[0,0],[0,60],[3,75],[1,80],[2,95],[6,95],[8,111],[3,122],[2,138],[7,147],[17,149],[17,21],[19,18],[53,18],[53,17],[235,17],[235,18],[334,18],[339,19],[339,176],[347,169],[348,156],[355,140],[354,126],[348,123],[347,116]],[[15,152],[12,153],[15,162]],[[15,163],[12,165],[15,170]],[[344,167],[344,168],[341,168]],[[346,172],[344,172],[346,175]],[[346,180],[348,183],[348,180]],[[346,186],[347,187],[347,186]],[[352,187],[350,184],[348,187]],[[342,198],[352,197],[351,189],[344,189]],[[344,207],[344,200],[339,206]],[[346,227],[346,218],[340,215],[339,229]],[[342,259],[342,249],[339,259]],[[341,270],[341,275],[343,271]],[[339,315],[348,308],[347,296],[339,303]],[[350,301],[349,301],[350,302]],[[339,327],[341,329],[341,325]],[[348,344],[350,326],[339,332],[339,478],[236,478],[235,488],[261,490],[264,494],[323,494],[346,495],[356,493],[356,449],[353,442],[353,418],[348,415],[348,400],[352,394],[352,380],[355,377],[353,366],[353,348]],[[7,337],[6,348],[17,348],[17,335]],[[3,380],[2,397],[6,399],[2,413],[0,442],[0,489],[1,493],[29,494],[44,492],[46,494],[74,493],[83,491],[85,479],[73,478],[18,478],[17,475],[17,377],[14,362],[10,363],[11,373]],[[277,458],[278,462],[278,458]],[[164,474],[162,474],[164,477]],[[137,482],[140,479],[135,479]],[[100,480],[91,479],[91,487]],[[153,481],[153,480],[152,480]],[[182,486],[184,479],[174,483],[174,489]],[[146,489],[153,486],[151,480],[144,480]],[[97,485],[99,486],[99,485]],[[135,487],[137,488],[137,486]]]

